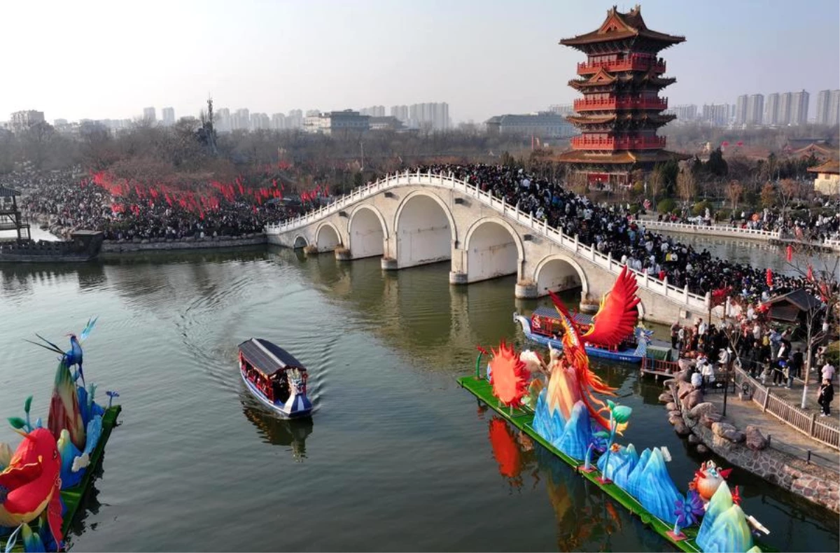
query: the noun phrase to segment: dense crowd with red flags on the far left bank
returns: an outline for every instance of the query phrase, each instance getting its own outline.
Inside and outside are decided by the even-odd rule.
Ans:
[[[68,235],[74,229],[102,230],[105,240],[181,240],[188,237],[241,236],[262,232],[265,224],[290,217],[285,203],[239,195],[230,201],[214,196],[212,208],[198,209],[158,198],[139,198],[134,189],[115,198],[89,176],[71,171],[37,176],[4,177],[6,186],[24,194],[21,207],[52,232]]]

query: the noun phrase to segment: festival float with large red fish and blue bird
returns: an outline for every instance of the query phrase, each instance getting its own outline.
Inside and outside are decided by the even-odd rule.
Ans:
[[[71,349],[66,352],[38,336],[45,345],[36,345],[59,354],[60,361],[46,427],[41,419],[32,421],[30,396],[24,402],[24,418],[8,419],[23,436],[17,450],[13,454],[8,444],[0,443],[0,547],[4,553],[65,548],[66,533],[117,424],[121,407],[113,399],[119,394],[106,392],[108,406],[100,405],[94,400],[97,385],[87,385],[82,370],[81,343],[94,324],[96,319],[89,320],[78,337],[70,334]]]

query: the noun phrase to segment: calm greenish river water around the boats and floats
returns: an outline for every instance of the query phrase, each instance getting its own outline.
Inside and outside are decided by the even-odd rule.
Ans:
[[[446,264],[383,274],[289,250],[157,254],[84,266],[3,267],[0,414],[46,417],[55,356],[87,318],[86,376],[124,410],[76,524],[79,551],[667,551],[539,446],[496,428],[455,377],[475,344],[513,338],[502,278],[450,287]],[[570,296],[574,300],[574,294]],[[274,419],[239,380],[251,336],[310,367],[311,422]],[[686,484],[701,459],[672,431],[660,387],[596,365],[633,408],[626,438],[667,445]],[[8,426],[0,440],[17,444]],[[743,507],[784,551],[838,550],[836,516],[734,471]]]

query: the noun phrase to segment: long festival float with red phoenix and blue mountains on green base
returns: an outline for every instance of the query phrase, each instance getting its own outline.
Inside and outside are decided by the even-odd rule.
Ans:
[[[584,345],[610,348],[624,340],[638,323],[637,291],[625,267],[585,333],[552,294],[562,351],[549,349],[545,361],[530,350],[517,353],[502,341],[492,350],[485,374],[481,354],[486,351],[480,348],[475,375],[459,383],[679,550],[757,553],[762,549],[753,531],[766,529],[744,514],[738,488],[727,485],[729,471],[708,461],[683,493],[669,476],[668,450],[639,453],[633,444],[617,443],[632,410],[597,397],[615,395],[615,390],[591,371]]]

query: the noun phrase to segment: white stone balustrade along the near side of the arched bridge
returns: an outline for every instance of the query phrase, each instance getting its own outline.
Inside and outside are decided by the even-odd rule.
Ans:
[[[563,231],[559,229],[549,227],[547,221],[540,221],[539,219],[534,218],[530,213],[524,213],[516,206],[512,206],[505,202],[504,199],[495,198],[490,192],[484,192],[467,182],[454,178],[451,174],[435,175],[431,172],[420,173],[418,171],[416,173],[410,173],[406,171],[396,175],[388,175],[384,179],[378,179],[376,182],[370,182],[365,187],[356,188],[353,192],[345,194],[327,206],[315,209],[309,213],[304,213],[295,219],[290,219],[281,224],[266,225],[265,234],[286,234],[287,232],[301,229],[302,227],[307,226],[307,224],[312,224],[320,219],[328,217],[333,213],[338,213],[344,208],[370,198],[379,192],[384,192],[394,187],[416,185],[447,188],[449,190],[465,194],[466,196],[470,196],[471,198],[475,198],[480,203],[483,203],[487,207],[494,209],[496,212],[501,213],[503,217],[515,220],[518,224],[522,224],[522,226],[531,229],[534,233],[552,240],[555,244],[563,247],[564,250],[569,250],[575,255],[579,255],[585,260],[591,261],[591,263],[600,266],[606,271],[610,271],[617,275],[622,270],[622,264],[613,260],[611,254],[604,255],[600,251],[596,250],[594,246],[581,244],[576,236],[575,238],[572,238],[567,234],[564,234]],[[678,288],[670,285],[667,278],[664,281],[660,281],[658,278],[648,276],[646,272],[635,271],[633,269],[630,270],[635,273],[638,286],[648,290],[648,292],[653,292],[660,296],[664,296],[665,298],[669,298],[675,303],[680,303],[688,309],[702,309],[705,311],[709,308],[711,296],[708,293],[705,296],[701,296],[689,292],[687,286]]]

